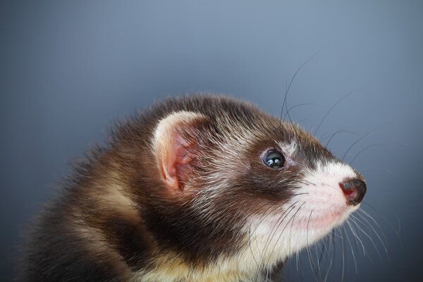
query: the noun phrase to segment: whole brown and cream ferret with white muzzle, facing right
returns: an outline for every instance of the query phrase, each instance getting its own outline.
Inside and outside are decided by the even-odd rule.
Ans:
[[[267,281],[367,189],[299,125],[229,97],[168,98],[106,143],[32,224],[20,281]]]

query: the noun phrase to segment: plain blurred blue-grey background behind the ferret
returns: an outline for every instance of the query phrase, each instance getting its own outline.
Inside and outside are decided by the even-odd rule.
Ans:
[[[390,259],[376,235],[381,259],[362,235],[372,260],[353,249],[355,274],[345,252],[344,280],[422,278],[422,27],[422,1],[1,1],[0,279],[11,278],[24,224],[115,118],[197,91],[278,115],[287,80],[321,49],[288,94],[288,106],[315,105],[293,109],[293,120],[314,130],[360,90],[317,137],[384,125],[346,161],[383,143],[353,164],[367,178],[364,201],[375,211],[363,209],[384,231]],[[358,137],[336,135],[329,147],[342,156]],[[303,276],[294,259],[286,280],[313,279],[301,257]],[[330,272],[339,281],[341,266]]]

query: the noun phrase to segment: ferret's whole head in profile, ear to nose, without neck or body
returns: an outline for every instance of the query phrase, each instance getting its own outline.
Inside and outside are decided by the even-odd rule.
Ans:
[[[300,126],[244,102],[197,99],[163,114],[152,134],[162,185],[146,222],[161,251],[271,266],[359,207],[364,178]]]

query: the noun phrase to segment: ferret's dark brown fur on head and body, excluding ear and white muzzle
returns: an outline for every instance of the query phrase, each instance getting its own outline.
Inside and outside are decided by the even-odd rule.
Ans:
[[[159,177],[151,145],[158,121],[175,111],[208,118],[183,133],[195,140],[197,158],[178,194],[168,192]],[[20,280],[126,281],[134,271],[154,267],[153,259],[165,253],[198,269],[235,254],[246,242],[240,228],[247,216],[288,200],[292,183],[301,177],[290,168],[283,172],[286,184],[276,185],[281,171],[269,172],[262,165],[264,149],[274,147],[274,140],[295,139],[302,144],[299,164],[333,159],[312,135],[297,135],[295,126],[282,127],[251,104],[202,95],[171,98],[118,123],[105,147],[92,149],[74,166],[60,195],[30,228],[18,266]],[[240,146],[238,152],[219,149],[217,143],[240,128],[257,135],[252,145]],[[234,161],[239,166],[214,167],[222,154],[238,157]],[[208,185],[207,177],[219,170],[233,171],[232,185],[207,203],[214,212],[204,222],[190,203]],[[111,192],[116,188],[129,204]]]

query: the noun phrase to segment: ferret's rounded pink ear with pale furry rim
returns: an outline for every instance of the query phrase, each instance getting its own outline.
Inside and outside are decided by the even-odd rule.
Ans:
[[[208,118],[190,111],[178,111],[159,121],[154,131],[154,154],[164,183],[183,190],[197,156],[198,130]]]

